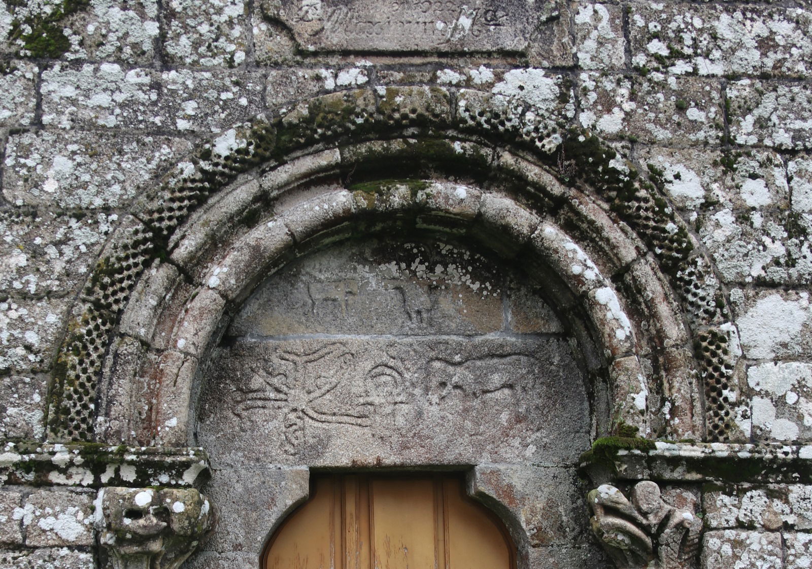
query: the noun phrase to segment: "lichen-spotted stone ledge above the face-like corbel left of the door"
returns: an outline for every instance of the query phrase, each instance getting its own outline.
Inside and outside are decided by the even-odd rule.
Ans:
[[[0,485],[188,488],[209,475],[200,448],[0,442]]]

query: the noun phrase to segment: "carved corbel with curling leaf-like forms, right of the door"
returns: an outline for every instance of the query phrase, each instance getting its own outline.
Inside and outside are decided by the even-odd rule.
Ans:
[[[601,485],[588,494],[587,501],[592,531],[620,569],[693,567],[702,519],[693,508],[680,509],[663,501],[654,482],[638,482],[631,500],[615,486]]]

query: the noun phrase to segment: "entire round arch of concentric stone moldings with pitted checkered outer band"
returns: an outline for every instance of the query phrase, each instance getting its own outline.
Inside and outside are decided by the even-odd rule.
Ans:
[[[123,220],[102,252],[58,358],[51,437],[184,445],[199,358],[218,337],[222,313],[261,278],[258,266],[339,239],[357,222],[369,229],[370,220],[420,215],[433,220],[433,229],[469,231],[462,223],[477,227],[477,235],[500,235],[500,254],[533,250],[554,268],[607,351],[615,420],[641,433],[704,437],[683,324],[689,321],[701,342],[706,387],[709,373],[719,379],[718,401],[709,399],[720,417],[711,421],[711,438],[726,436],[732,420],[722,381],[725,397],[735,397],[735,386],[727,385],[732,364],[722,353],[726,307],[707,273],[710,263],[691,252],[685,226],[659,196],[656,173],[654,182],[640,179],[593,136],[567,130],[561,117],[531,117],[526,107],[464,89],[357,90],[304,101],[202,145],[136,216]],[[579,170],[579,161],[590,166]],[[412,181],[375,183],[382,171]],[[452,186],[416,178],[463,178],[466,195],[478,197],[456,203]],[[275,213],[285,200],[289,207]],[[209,286],[213,278],[222,282],[223,260],[213,246],[238,228],[240,237],[230,235],[230,280]],[[598,277],[573,274],[568,263],[576,260],[594,266]],[[676,308],[663,272],[673,287],[689,291],[693,313]],[[617,334],[598,296],[637,311],[614,320],[646,325]],[[166,339],[157,341],[160,326]],[[149,374],[136,372],[142,360]],[[629,404],[645,390],[668,402],[670,422],[662,429],[650,425],[659,408],[646,416]],[[152,395],[158,406],[122,415]],[[127,416],[126,425],[115,416]]]

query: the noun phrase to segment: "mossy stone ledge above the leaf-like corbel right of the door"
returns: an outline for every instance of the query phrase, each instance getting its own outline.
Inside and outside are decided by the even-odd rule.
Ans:
[[[812,484],[812,445],[607,437],[581,455],[579,470],[594,485],[641,480]]]

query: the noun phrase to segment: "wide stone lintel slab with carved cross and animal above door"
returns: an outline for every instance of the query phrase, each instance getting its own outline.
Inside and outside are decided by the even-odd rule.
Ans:
[[[555,339],[241,341],[209,373],[198,433],[231,465],[572,463],[588,426],[571,357]]]

